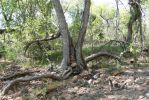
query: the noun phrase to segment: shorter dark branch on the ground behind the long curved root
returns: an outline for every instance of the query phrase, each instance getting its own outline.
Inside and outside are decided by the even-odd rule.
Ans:
[[[0,80],[1,81],[11,80],[13,78],[18,78],[18,77],[23,77],[23,76],[26,76],[26,75],[30,75],[30,74],[32,74],[34,72],[38,72],[38,71],[17,72],[17,73],[14,73],[12,75],[4,76],[4,77],[0,78]]]

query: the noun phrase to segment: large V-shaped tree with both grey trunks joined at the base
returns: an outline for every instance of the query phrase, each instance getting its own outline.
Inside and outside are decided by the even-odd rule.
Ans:
[[[72,37],[70,35],[68,24],[66,22],[60,1],[51,1],[56,11],[59,30],[63,38],[63,60],[61,66],[63,69],[71,68],[71,64],[75,62],[78,66],[77,69],[79,69],[79,71],[82,71],[84,68],[86,68],[86,63],[82,54],[82,47],[89,20],[91,1],[84,0],[84,11],[76,44],[73,43]]]

